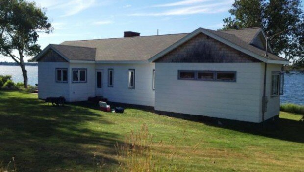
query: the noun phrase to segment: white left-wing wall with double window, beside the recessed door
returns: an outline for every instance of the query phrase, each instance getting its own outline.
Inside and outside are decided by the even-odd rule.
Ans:
[[[86,83],[72,83],[72,69],[87,69]],[[88,97],[95,96],[95,64],[94,63],[70,63],[70,101],[86,101]]]

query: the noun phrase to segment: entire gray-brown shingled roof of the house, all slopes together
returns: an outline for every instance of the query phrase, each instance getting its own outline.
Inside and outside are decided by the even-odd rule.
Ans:
[[[245,48],[254,54],[265,57],[264,50],[249,44],[260,29],[260,27],[256,27],[224,31],[205,30]],[[60,45],[51,44],[51,47],[71,60],[147,61],[188,34],[189,33],[65,41]],[[268,53],[268,57],[265,58],[286,60],[271,53]],[[35,60],[35,58],[32,60]]]

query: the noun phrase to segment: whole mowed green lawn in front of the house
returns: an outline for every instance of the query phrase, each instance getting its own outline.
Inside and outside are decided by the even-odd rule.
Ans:
[[[301,118],[282,112],[264,129],[240,122],[217,125],[135,108],[104,113],[85,102],[53,107],[36,94],[0,91],[0,162],[14,157],[19,172],[91,172],[100,170],[97,163],[105,164],[102,171],[119,171],[114,145],[146,123],[160,166],[169,166],[172,156],[165,155],[176,152],[177,171],[303,172]],[[178,141],[174,145],[172,138]]]

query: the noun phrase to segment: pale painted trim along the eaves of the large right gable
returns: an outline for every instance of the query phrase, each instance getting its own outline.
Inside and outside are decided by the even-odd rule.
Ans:
[[[183,37],[182,39],[180,39],[179,41],[177,41],[176,43],[172,44],[171,46],[169,46],[168,48],[166,48],[165,50],[161,51],[160,53],[156,54],[155,56],[149,58],[149,62],[154,62],[156,59],[160,58],[160,57],[163,57],[164,55],[166,55],[167,53],[171,52],[172,50],[174,50],[175,48],[177,48],[178,46],[182,45],[183,43],[187,42],[188,40],[190,40],[191,38],[195,37],[196,35],[200,34],[200,33],[203,33],[207,36],[210,36],[211,38],[213,39],[216,39],[240,52],[243,52],[251,57],[254,57],[262,62],[265,62],[265,63],[273,63],[273,64],[289,64],[289,61],[283,61],[283,60],[270,60],[270,59],[267,59],[265,57],[262,57],[260,55],[257,55],[255,53],[253,53],[252,51],[249,51],[243,47],[240,47],[218,35],[215,35],[203,28],[198,28],[196,30],[194,30],[192,33],[188,34],[187,36]]]

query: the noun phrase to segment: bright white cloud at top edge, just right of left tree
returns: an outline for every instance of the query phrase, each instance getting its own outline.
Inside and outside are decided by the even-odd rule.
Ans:
[[[75,15],[85,9],[92,7],[95,4],[95,0],[69,0],[66,3],[57,4],[55,6],[51,6],[50,9],[62,9],[65,16]]]

